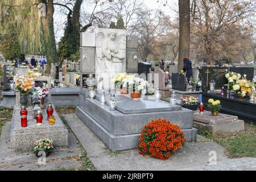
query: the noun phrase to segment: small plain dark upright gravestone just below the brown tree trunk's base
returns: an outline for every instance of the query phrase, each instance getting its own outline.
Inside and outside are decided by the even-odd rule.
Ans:
[[[182,73],[172,73],[172,89],[187,91],[187,79]]]

